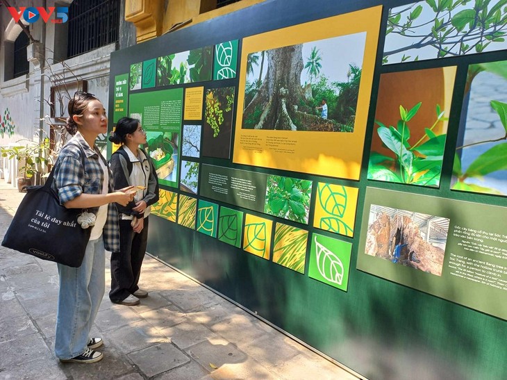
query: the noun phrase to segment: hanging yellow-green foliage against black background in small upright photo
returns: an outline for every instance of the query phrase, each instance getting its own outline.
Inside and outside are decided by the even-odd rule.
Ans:
[[[234,88],[213,88],[206,91],[206,123],[213,129],[213,137],[220,133],[224,113],[231,113],[234,105]]]

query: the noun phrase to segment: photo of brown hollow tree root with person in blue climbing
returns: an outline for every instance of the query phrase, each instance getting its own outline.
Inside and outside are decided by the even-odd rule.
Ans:
[[[372,204],[365,254],[442,275],[449,218]]]

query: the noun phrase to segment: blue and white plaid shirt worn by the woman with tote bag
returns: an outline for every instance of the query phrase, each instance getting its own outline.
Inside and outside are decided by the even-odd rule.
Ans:
[[[80,145],[85,153],[85,167]],[[71,201],[81,193],[101,194],[104,174],[99,160],[102,159],[97,146],[91,149],[79,132],[65,144],[56,160],[54,181],[51,185],[58,193],[60,204]],[[113,188],[113,174],[109,169],[109,192],[113,192]],[[88,208],[88,211],[94,214],[97,214],[98,210],[98,207]],[[118,211],[114,203],[108,204],[108,219],[103,228],[103,238],[108,251],[119,251]]]

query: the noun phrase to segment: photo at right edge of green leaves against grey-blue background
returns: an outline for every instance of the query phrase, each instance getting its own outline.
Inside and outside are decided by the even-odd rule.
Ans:
[[[507,196],[507,60],[469,65],[451,189]]]

